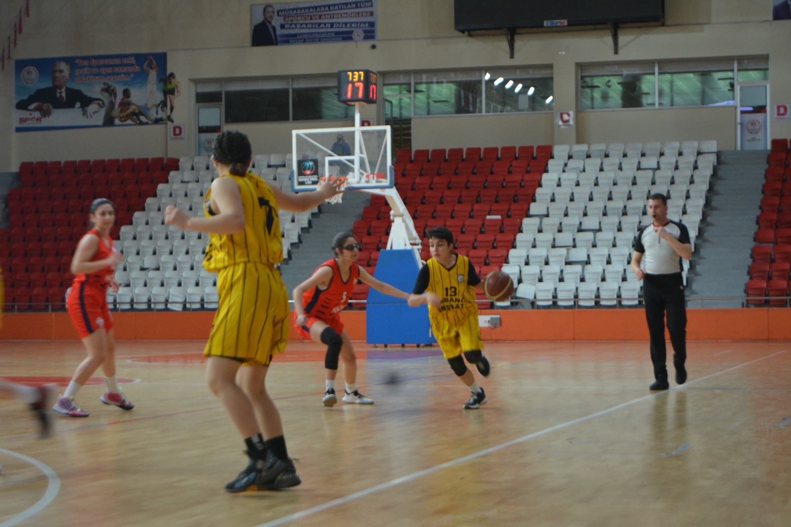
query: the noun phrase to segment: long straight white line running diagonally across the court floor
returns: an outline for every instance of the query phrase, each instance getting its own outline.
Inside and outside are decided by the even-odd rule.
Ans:
[[[438,471],[443,470],[445,468],[454,467],[457,464],[466,463],[467,461],[471,461],[471,460],[477,459],[479,457],[487,456],[490,453],[498,452],[499,450],[502,450],[502,449],[507,449],[510,446],[518,445],[518,444],[520,444],[522,442],[526,442],[526,441],[529,441],[531,439],[538,438],[538,437],[540,437],[542,435],[551,434],[554,431],[562,430],[563,428],[571,427],[571,426],[573,426],[575,424],[585,423],[585,421],[589,421],[591,419],[596,419],[597,417],[601,417],[602,415],[610,414],[610,413],[612,413],[614,411],[618,411],[618,410],[620,410],[622,408],[626,408],[626,407],[631,406],[633,404],[639,403],[639,402],[641,402],[643,400],[649,400],[649,399],[652,399],[654,397],[664,396],[664,395],[667,395],[668,392],[671,392],[673,390],[681,390],[681,389],[684,389],[687,386],[693,385],[693,384],[695,384],[697,382],[706,381],[706,379],[710,379],[712,377],[718,377],[718,376],[723,375],[725,373],[729,373],[729,372],[731,372],[733,370],[738,370],[740,368],[743,368],[744,366],[749,366],[749,365],[753,364],[754,362],[763,361],[766,358],[772,358],[775,355],[784,354],[784,353],[785,353],[785,350],[778,351],[778,352],[770,354],[770,355],[766,355],[766,357],[755,358],[754,360],[751,360],[750,362],[744,362],[744,364],[740,364],[738,366],[733,366],[732,368],[729,368],[728,370],[722,370],[721,372],[711,373],[710,375],[706,375],[706,377],[700,377],[699,379],[695,379],[694,381],[689,381],[685,385],[676,386],[676,387],[674,387],[672,389],[669,389],[669,390],[666,390],[666,391],[657,392],[657,393],[651,393],[651,394],[649,394],[647,396],[642,396],[642,397],[638,397],[637,399],[626,401],[625,403],[616,404],[615,406],[613,406],[611,408],[607,408],[607,409],[602,410],[602,411],[596,411],[595,413],[592,413],[590,415],[585,415],[585,416],[577,418],[577,419],[572,419],[570,421],[566,421],[566,423],[560,423],[560,424],[555,425],[554,427],[545,428],[543,430],[539,430],[537,432],[533,432],[532,434],[524,435],[521,438],[512,439],[509,442],[501,443],[500,445],[492,446],[491,448],[483,449],[483,450],[481,450],[479,452],[476,452],[476,453],[471,453],[468,456],[459,457],[459,458],[457,458],[455,460],[447,461],[447,462],[442,463],[442,464],[437,464],[437,465],[435,465],[435,466],[433,466],[431,468],[426,468],[425,470],[421,470],[421,471],[418,471],[418,472],[413,472],[411,474],[407,474],[407,476],[401,476],[401,477],[395,478],[395,480],[390,480],[390,481],[387,481],[385,483],[380,483],[378,485],[374,485],[373,487],[369,487],[369,488],[367,488],[365,490],[362,490],[362,491],[353,492],[350,495],[343,496],[343,498],[333,499],[333,500],[331,500],[329,502],[322,503],[321,505],[312,506],[309,509],[301,510],[300,512],[289,514],[288,516],[283,516],[282,518],[278,518],[277,520],[267,521],[266,523],[255,525],[255,527],[275,527],[275,525],[283,525],[283,524],[289,523],[290,521],[300,520],[302,518],[307,518],[308,516],[312,516],[312,514],[320,513],[320,512],[322,512],[324,510],[331,509],[334,506],[344,505],[344,504],[346,504],[348,502],[354,501],[355,499],[365,497],[365,496],[373,494],[375,492],[384,491],[385,489],[388,489],[390,487],[395,487],[396,485],[400,485],[401,483],[407,483],[408,481],[411,481],[411,480],[417,480],[418,478],[422,478],[423,476],[428,476],[429,474],[432,474],[433,472],[438,472]],[[2,525],[0,525],[0,527],[2,527]]]

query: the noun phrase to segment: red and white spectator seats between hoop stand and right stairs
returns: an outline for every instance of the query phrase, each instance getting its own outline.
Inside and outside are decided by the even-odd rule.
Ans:
[[[504,146],[499,155],[496,150],[448,149],[442,161],[434,150],[399,150],[395,187],[418,233],[425,236],[433,226],[451,229],[456,248],[482,276],[509,264],[517,290],[532,286],[523,287],[527,296],[520,298],[538,306],[554,305],[554,299],[572,306],[573,298],[583,297],[583,306],[615,305],[617,298],[622,305],[638,305],[640,284],[627,266],[638,229],[650,222],[645,201],[653,192],[668,195],[668,215],[687,225],[694,250],[716,142]],[[377,214],[383,206],[384,199],[372,199],[355,222],[356,236],[373,234],[374,222],[388,217]],[[361,258],[370,264],[371,254]],[[421,256],[430,257],[425,239]]]

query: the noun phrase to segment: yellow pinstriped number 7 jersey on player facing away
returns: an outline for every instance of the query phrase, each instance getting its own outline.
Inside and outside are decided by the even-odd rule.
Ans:
[[[269,185],[252,172],[244,176],[225,174],[239,184],[244,207],[244,230],[235,234],[209,235],[203,267],[206,271],[218,272],[233,264],[258,262],[275,265],[283,260],[278,207]],[[209,203],[211,189],[203,199],[206,216],[211,216]]]

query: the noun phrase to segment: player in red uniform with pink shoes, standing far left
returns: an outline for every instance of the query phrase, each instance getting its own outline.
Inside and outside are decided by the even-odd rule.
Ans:
[[[88,350],[88,357],[77,366],[66,391],[52,407],[70,417],[88,417],[88,412],[82,411],[74,402],[74,396],[99,366],[108,389],[99,400],[124,410],[134,408],[134,404],[121,393],[115,378],[115,344],[107,305],[107,288],[112,286],[114,292],[118,291],[115,266],[123,261],[123,256],[115,252],[110,239],[110,229],[115,225],[115,205],[109,199],[95,199],[90,213],[93,227],[81,238],[74,251],[71,260],[74,282],[66,298],[66,309]]]

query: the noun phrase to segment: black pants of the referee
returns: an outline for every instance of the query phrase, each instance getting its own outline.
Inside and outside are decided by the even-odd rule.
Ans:
[[[681,273],[645,275],[643,279],[645,320],[651,337],[651,362],[655,378],[668,378],[667,351],[664,344],[664,316],[673,345],[673,365],[678,370],[687,361],[687,308]]]

